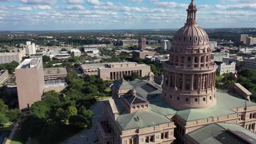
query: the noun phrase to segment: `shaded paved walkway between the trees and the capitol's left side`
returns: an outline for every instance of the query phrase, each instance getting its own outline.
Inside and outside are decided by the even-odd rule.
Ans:
[[[80,131],[80,133],[69,137],[69,139],[67,139],[66,141],[61,142],[61,144],[94,143],[94,141],[98,139],[96,122],[100,121],[100,119],[102,118],[102,103],[103,101],[97,101],[94,105],[90,107],[90,110],[94,111],[91,129],[84,129]]]

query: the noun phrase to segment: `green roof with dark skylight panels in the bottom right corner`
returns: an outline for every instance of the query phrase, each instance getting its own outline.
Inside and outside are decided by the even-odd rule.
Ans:
[[[197,129],[188,135],[199,144],[223,144],[217,140],[217,136],[222,133],[226,133],[228,129],[236,131],[236,133],[240,134],[242,137],[245,137],[248,140],[253,141],[254,143],[256,142],[256,134],[254,134],[252,131],[243,128],[238,124],[230,123],[213,123]],[[225,135],[225,137],[222,137],[222,139],[230,140],[231,143],[234,143],[235,141],[240,141],[241,143],[245,142],[232,133],[228,133],[228,135]]]

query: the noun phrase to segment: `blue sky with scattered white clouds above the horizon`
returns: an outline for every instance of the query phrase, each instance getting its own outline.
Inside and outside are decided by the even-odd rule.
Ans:
[[[181,28],[191,0],[0,0],[0,31]],[[256,0],[194,0],[203,28],[256,27]]]

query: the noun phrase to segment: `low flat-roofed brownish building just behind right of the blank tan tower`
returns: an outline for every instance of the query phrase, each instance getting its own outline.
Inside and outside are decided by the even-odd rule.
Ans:
[[[44,68],[44,80],[65,79],[67,68]]]

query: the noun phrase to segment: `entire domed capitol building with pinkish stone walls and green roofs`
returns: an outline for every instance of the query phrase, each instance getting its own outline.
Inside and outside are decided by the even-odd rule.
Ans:
[[[217,91],[218,66],[210,61],[209,38],[197,25],[193,0],[186,12],[187,23],[174,35],[164,64],[163,85],[115,81],[113,99],[103,102],[97,122],[98,143],[254,143],[252,93],[239,83],[232,93]]]

